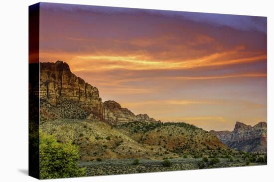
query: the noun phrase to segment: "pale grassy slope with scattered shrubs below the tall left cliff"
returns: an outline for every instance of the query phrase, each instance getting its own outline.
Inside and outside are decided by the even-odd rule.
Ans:
[[[160,159],[156,155],[160,146],[140,144],[124,132],[102,121],[58,119],[40,125],[43,131],[54,134],[59,142],[73,142],[79,146],[81,160],[96,158],[123,159],[143,158]],[[107,139],[110,137],[110,140]],[[165,151],[163,148],[162,151]],[[177,156],[171,152],[165,157]]]

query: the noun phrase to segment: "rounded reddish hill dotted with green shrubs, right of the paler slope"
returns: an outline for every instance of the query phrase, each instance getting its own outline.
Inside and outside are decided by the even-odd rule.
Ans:
[[[215,135],[194,125],[132,122],[118,126],[141,144],[162,146],[179,156],[226,154],[230,151]]]

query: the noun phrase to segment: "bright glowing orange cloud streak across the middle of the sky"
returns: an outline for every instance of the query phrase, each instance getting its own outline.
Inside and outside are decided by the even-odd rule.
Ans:
[[[144,55],[133,56],[90,56],[90,55],[71,55],[62,56],[61,54],[50,55],[49,57],[55,58],[68,58],[66,61],[71,65],[73,71],[84,70],[111,70],[117,68],[125,68],[131,70],[148,70],[148,69],[189,69],[197,67],[209,67],[220,66],[229,64],[238,64],[252,61],[266,60],[267,55],[259,55],[254,57],[246,57],[240,59],[228,59],[224,55],[229,53],[213,54],[204,58],[193,60],[181,60],[181,61],[153,61],[148,60]],[[41,58],[45,57],[45,54],[41,54]],[[43,60],[43,59],[41,59]],[[77,61],[75,61],[77,60]]]

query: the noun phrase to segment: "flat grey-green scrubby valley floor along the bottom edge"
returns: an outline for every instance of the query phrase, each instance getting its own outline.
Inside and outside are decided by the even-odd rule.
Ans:
[[[164,167],[162,160],[140,159],[139,164],[134,165],[134,159],[105,159],[101,162],[79,162],[79,167],[86,167],[86,176],[103,176],[134,173],[152,173],[164,171],[182,171],[201,169],[199,163],[202,159],[169,159],[170,167]],[[250,163],[249,166],[267,165],[267,163]],[[229,159],[220,159],[220,162],[214,165],[206,165],[202,168],[225,168],[247,166],[242,159],[230,162]]]

